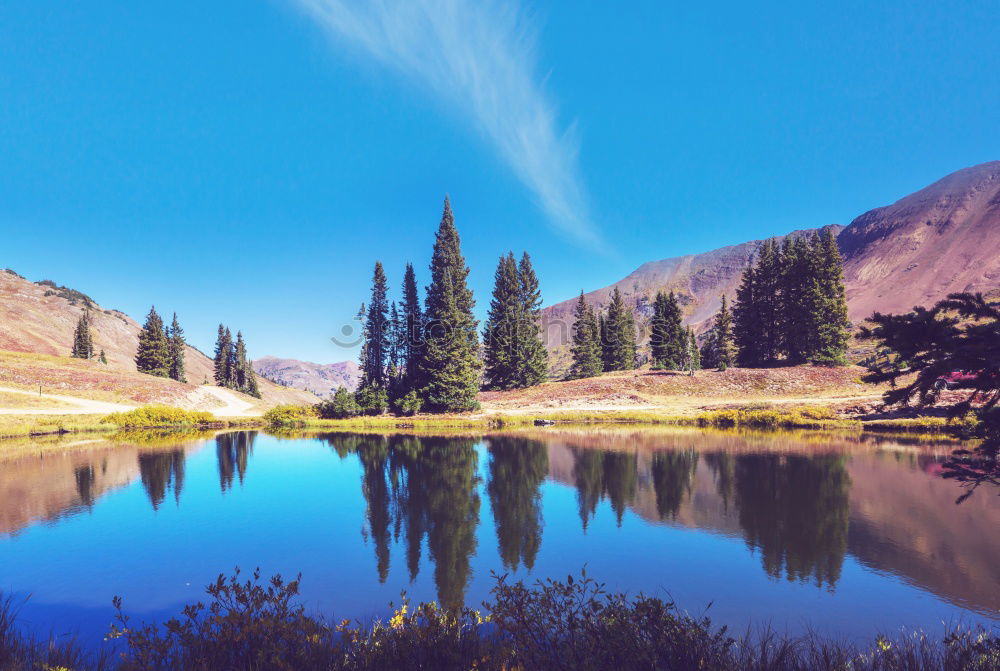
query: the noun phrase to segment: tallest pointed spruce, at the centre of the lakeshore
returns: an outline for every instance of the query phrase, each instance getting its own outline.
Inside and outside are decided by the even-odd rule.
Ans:
[[[469,269],[448,198],[434,240],[427,287],[427,336],[420,361],[421,395],[431,411],[461,412],[479,407],[480,361],[475,299]]]

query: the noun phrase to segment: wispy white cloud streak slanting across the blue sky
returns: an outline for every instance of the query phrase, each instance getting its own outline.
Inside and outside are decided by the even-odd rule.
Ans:
[[[560,129],[518,0],[293,0],[338,42],[459,111],[559,230],[603,247],[587,211],[572,127]]]

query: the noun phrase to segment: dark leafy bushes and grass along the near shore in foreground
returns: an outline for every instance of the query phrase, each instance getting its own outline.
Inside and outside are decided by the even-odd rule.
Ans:
[[[581,580],[509,583],[498,577],[484,611],[444,610],[404,601],[388,621],[327,623],[297,603],[298,579],[241,581],[237,570],[207,588],[207,604],[184,608],[162,626],[134,626],[114,600],[110,638],[121,654],[87,657],[73,641],[38,642],[18,634],[9,601],[0,601],[0,669],[76,671],[991,671],[1000,638],[982,629],[943,640],[923,634],[877,637],[855,648],[817,636],[770,632],[739,639],[672,602],[610,594]]]

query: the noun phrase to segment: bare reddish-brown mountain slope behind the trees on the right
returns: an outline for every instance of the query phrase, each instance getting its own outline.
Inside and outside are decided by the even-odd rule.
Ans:
[[[990,291],[1000,285],[1000,161],[959,170],[893,205],[836,227],[844,255],[853,320],[875,310],[901,312],[953,291]],[[792,233],[812,233],[812,229]],[[640,317],[652,312],[659,290],[673,290],[685,322],[702,325],[732,298],[762,240],[704,254],[645,263],[626,278],[586,294],[599,308],[615,287]],[[576,298],[542,311],[550,349],[569,342]]]

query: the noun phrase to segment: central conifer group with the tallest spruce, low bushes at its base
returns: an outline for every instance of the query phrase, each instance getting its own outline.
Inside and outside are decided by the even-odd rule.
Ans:
[[[385,269],[375,263],[371,297],[359,311],[358,390],[353,395],[338,390],[319,406],[321,416],[463,412],[479,407],[481,386],[515,389],[544,381],[548,354],[538,321],[542,298],[530,256],[524,253],[517,261],[510,252],[500,258],[482,346],[468,276],[446,198],[423,304],[411,264],[397,303],[389,300]]]

